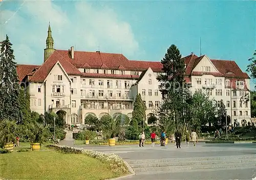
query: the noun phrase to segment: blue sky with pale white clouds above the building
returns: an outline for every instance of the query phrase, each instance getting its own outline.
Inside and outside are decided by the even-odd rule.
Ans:
[[[256,49],[255,1],[7,1],[0,40],[8,34],[17,63],[41,64],[49,21],[55,49],[122,53],[160,61],[175,44],[245,71]]]

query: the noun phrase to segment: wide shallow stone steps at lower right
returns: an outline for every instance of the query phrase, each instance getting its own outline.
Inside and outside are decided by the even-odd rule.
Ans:
[[[172,158],[154,160],[126,160],[136,174],[208,171],[255,168],[255,155],[220,156],[208,158]]]

